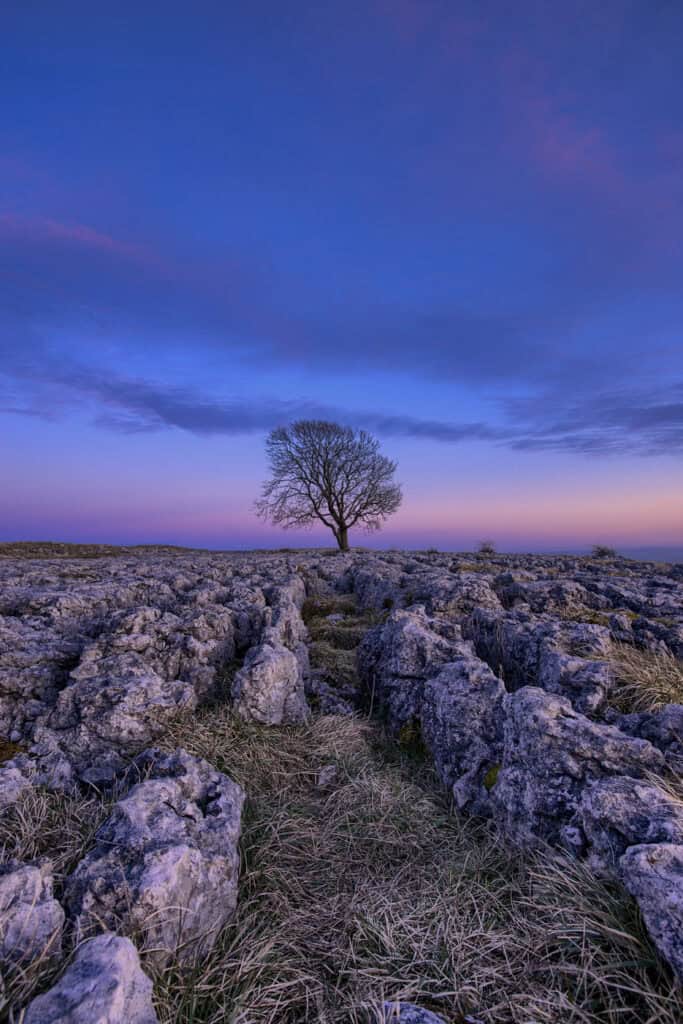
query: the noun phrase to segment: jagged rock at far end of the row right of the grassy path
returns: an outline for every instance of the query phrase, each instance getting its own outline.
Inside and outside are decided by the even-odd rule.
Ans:
[[[446,662],[470,648],[439,636],[424,608],[393,611],[370,630],[358,647],[358,676],[367,699],[394,732],[419,721],[425,682]]]

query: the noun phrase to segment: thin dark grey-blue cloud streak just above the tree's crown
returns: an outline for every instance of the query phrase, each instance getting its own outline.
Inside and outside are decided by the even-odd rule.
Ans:
[[[5,370],[7,374],[7,370]],[[298,419],[325,419],[364,427],[383,437],[457,444],[480,441],[516,451],[550,451],[587,456],[675,456],[683,453],[683,382],[661,393],[641,390],[602,395],[565,403],[555,395],[508,400],[500,423],[444,421],[350,412],[343,407],[305,397],[283,400],[263,397],[219,398],[197,389],[132,379],[76,366],[57,367],[46,359],[41,368],[26,364],[14,371],[15,385],[28,394],[0,411],[53,419],[70,407],[93,409],[97,426],[121,433],[183,430],[199,436],[264,433]],[[31,397],[32,387],[37,392]]]

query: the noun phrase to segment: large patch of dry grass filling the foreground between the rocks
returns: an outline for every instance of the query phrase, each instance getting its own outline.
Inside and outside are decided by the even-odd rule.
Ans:
[[[452,1024],[681,1019],[628,896],[557,854],[506,851],[367,721],[266,730],[223,710],[168,742],[249,800],[237,918],[196,970],[156,978],[164,1024],[369,1024],[383,998]]]

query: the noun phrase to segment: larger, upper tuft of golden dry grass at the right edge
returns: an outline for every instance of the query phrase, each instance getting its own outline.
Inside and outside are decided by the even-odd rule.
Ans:
[[[614,690],[611,703],[620,711],[658,711],[683,703],[683,662],[673,654],[612,645]]]

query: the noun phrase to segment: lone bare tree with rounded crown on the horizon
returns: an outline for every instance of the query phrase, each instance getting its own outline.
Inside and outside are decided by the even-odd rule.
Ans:
[[[365,430],[299,420],[271,430],[265,451],[270,477],[256,512],[285,529],[319,519],[339,550],[348,551],[352,526],[379,529],[400,505],[396,463],[380,454],[380,442]]]

